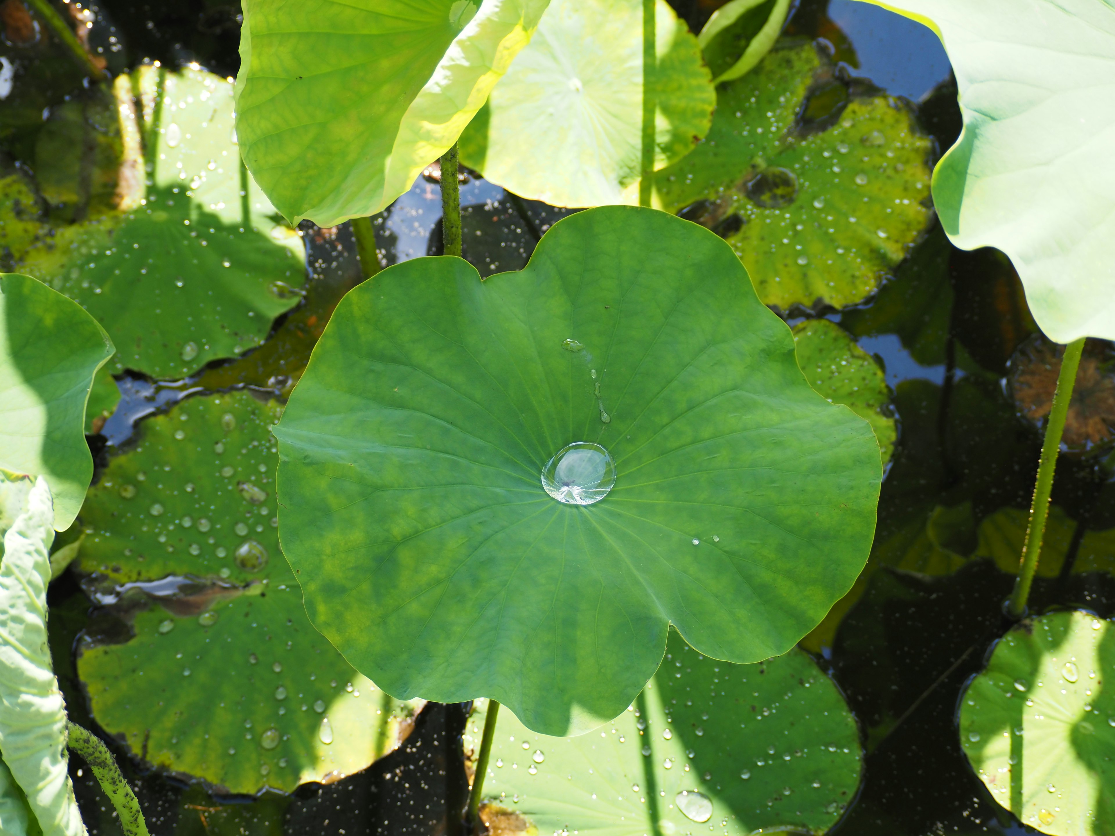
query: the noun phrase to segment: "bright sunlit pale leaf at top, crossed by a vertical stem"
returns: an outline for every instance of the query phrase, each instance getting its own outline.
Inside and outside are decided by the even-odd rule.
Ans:
[[[697,39],[665,0],[655,8],[655,168],[662,168],[708,133],[716,94]],[[553,206],[638,204],[642,39],[642,0],[553,0],[462,135],[462,162]]]

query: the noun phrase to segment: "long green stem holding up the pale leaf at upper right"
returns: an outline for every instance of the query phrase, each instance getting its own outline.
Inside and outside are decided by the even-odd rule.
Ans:
[[[1030,504],[1030,523],[1026,528],[1026,542],[1022,544],[1021,566],[1018,571],[1018,581],[1015,582],[1015,591],[1010,595],[1010,604],[1007,607],[1007,612],[1015,619],[1020,619],[1026,612],[1026,600],[1030,595],[1034,573],[1038,568],[1038,555],[1041,553],[1041,539],[1045,536],[1045,523],[1049,514],[1053,473],[1057,467],[1060,436],[1065,431],[1065,418],[1068,416],[1068,404],[1073,399],[1073,383],[1076,381],[1076,369],[1080,364],[1084,340],[1085,338],[1082,337],[1068,343],[1060,360],[1057,389],[1053,395],[1053,407],[1049,409],[1046,436],[1041,443],[1041,460],[1038,464],[1037,483],[1034,485],[1034,502]]]

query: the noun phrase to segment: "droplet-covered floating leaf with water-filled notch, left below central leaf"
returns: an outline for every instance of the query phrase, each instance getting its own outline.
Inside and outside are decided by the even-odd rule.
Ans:
[[[144,421],[80,517],[84,585],[133,631],[81,645],[94,717],[145,761],[230,793],[363,769],[415,708],[306,618],[275,536],[279,412],[241,391]]]

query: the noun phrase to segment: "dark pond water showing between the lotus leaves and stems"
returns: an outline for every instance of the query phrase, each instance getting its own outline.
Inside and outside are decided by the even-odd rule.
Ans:
[[[717,2],[675,4],[696,29]],[[153,58],[169,66],[197,60],[222,75],[237,69],[239,3],[107,0],[91,9],[98,16],[91,42],[101,46],[110,68]],[[951,144],[959,130],[956,89],[944,52],[928,30],[851,0],[805,0],[788,28],[824,38],[850,74],[917,103],[939,147]],[[20,149],[6,146],[3,153],[10,163]],[[462,187],[462,203],[465,255],[485,275],[522,266],[539,236],[565,213],[475,178]],[[437,184],[419,178],[376,218],[384,262],[438,252],[439,216]],[[347,225],[303,224],[303,231],[312,280],[301,304],[275,323],[266,343],[234,361],[214,363],[188,380],[120,380],[120,408],[90,437],[101,464],[127,447],[137,421],[181,398],[233,387],[287,387],[333,307],[360,279]],[[981,519],[1004,507],[1027,507],[1040,439],[1019,417],[1006,386],[1010,358],[1034,330],[1021,299],[1004,259],[956,251],[934,230],[875,299],[828,314],[879,359],[894,391],[900,440],[883,486],[876,543],[919,525],[934,509],[967,504],[970,522],[953,534],[957,547],[970,553]],[[1032,609],[1083,606],[1111,615],[1115,580],[1070,572],[1083,533],[1115,527],[1111,468],[1095,451],[1064,457],[1054,502],[1078,525],[1066,571],[1039,580]],[[1031,832],[991,800],[957,742],[959,694],[1005,629],[1001,604],[1011,584],[1011,576],[987,561],[935,577],[880,571],[820,648],[820,661],[843,689],[867,748],[859,797],[835,833]],[[51,587],[50,603],[52,649],[68,702],[78,722],[93,725],[71,649],[83,629],[98,629],[100,616],[69,576]],[[465,710],[429,706],[395,754],[361,774],[329,786],[307,785],[293,796],[211,797],[200,787],[138,771],[126,757],[122,761],[155,834],[449,834],[458,823],[447,810],[459,809],[466,793]],[[89,774],[76,762],[71,771],[90,833],[119,833]]]

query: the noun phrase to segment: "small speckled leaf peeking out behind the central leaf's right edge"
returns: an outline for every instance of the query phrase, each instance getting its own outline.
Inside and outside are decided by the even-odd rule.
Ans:
[[[894,453],[898,426],[886,377],[879,363],[855,344],[847,331],[826,319],[794,328],[797,364],[809,386],[833,404],[843,404],[875,431],[885,465]]]

